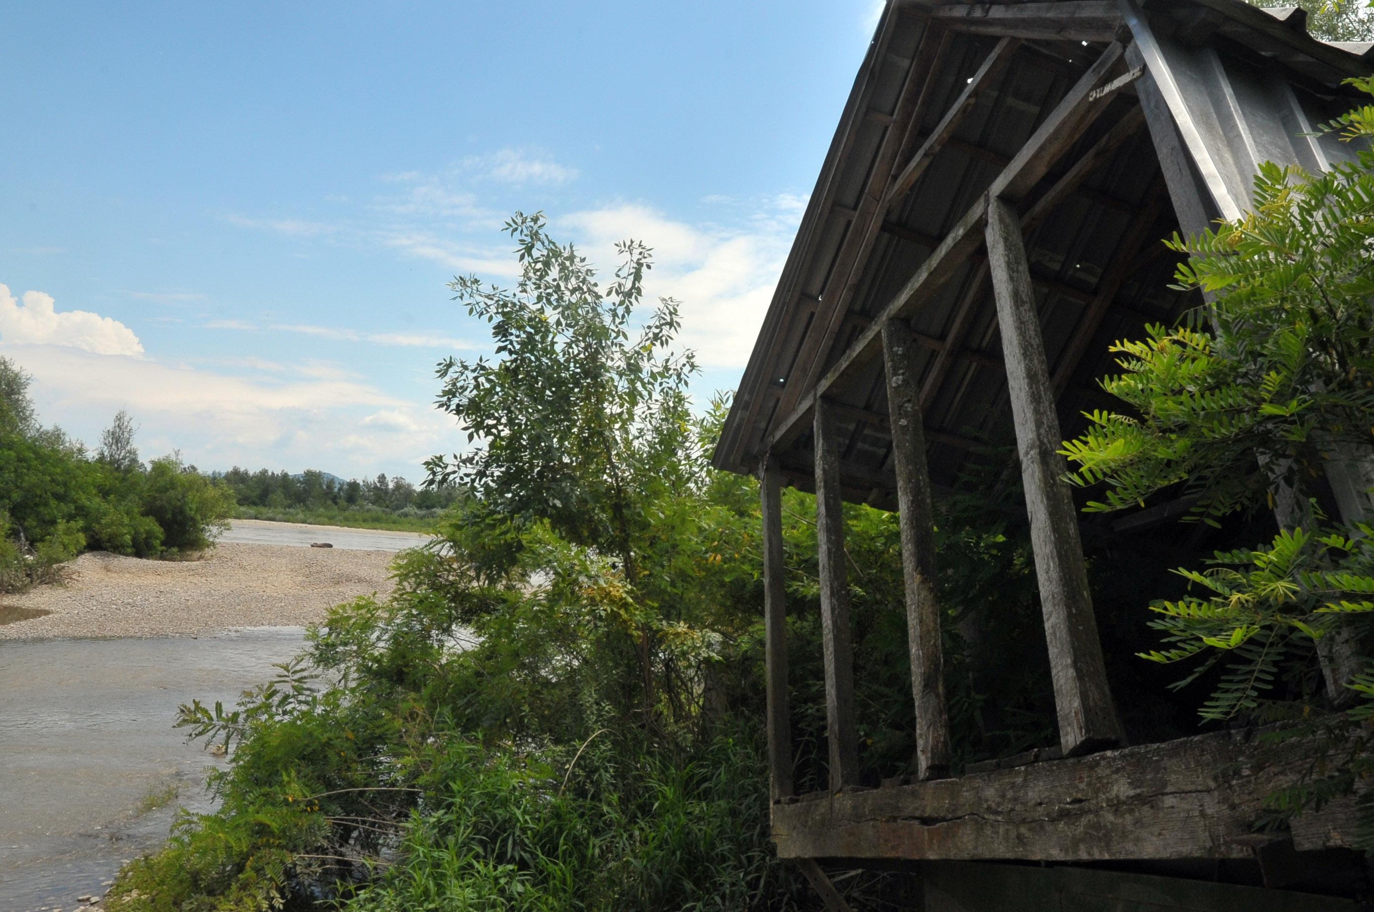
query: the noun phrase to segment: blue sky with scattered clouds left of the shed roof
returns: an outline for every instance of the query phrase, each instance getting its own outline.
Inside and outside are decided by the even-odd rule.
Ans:
[[[420,477],[543,209],[738,380],[881,3],[0,5],[0,354],[144,456]]]

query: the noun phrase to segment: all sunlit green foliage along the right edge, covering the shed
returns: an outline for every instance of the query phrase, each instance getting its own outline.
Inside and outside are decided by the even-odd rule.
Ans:
[[[1370,80],[1351,82],[1374,91]],[[1374,775],[1374,670],[1337,681],[1358,694],[1355,709],[1312,711],[1323,709],[1323,654],[1330,670],[1330,655],[1367,657],[1371,646],[1371,526],[1359,516],[1326,525],[1319,499],[1329,460],[1374,456],[1374,107],[1325,129],[1359,141],[1356,159],[1322,174],[1261,165],[1253,212],[1173,238],[1190,255],[1176,287],[1210,304],[1186,326],[1113,345],[1124,372],[1103,387],[1131,411],[1088,415],[1090,430],[1061,452],[1077,467],[1070,481],[1105,486],[1088,510],[1173,489],[1215,526],[1237,511],[1272,511],[1279,530],[1267,547],[1176,571],[1190,589],[1153,603],[1164,644],[1143,655],[1193,663],[1176,687],[1212,680],[1206,721],[1283,720],[1279,740],[1314,738],[1308,775],[1270,797],[1268,823],[1355,793],[1366,810],[1360,845],[1374,852],[1364,784]]]

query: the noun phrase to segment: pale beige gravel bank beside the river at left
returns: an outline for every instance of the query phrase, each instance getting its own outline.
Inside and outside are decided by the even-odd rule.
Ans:
[[[69,636],[194,636],[243,626],[301,626],[360,595],[386,595],[394,551],[224,543],[201,560],[85,554],[66,585],[0,596],[51,611],[0,625],[0,640]]]

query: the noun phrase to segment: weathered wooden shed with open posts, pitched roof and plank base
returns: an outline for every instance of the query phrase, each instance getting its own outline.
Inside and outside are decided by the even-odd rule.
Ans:
[[[714,453],[763,481],[783,856],[1215,861],[1285,839],[1250,823],[1300,757],[1248,768],[1232,733],[1124,746],[1057,451],[1102,396],[1107,343],[1195,304],[1158,239],[1241,214],[1261,161],[1349,155],[1309,133],[1370,60],[1241,0],[889,0]],[[1020,453],[1059,749],[948,779],[932,499],[966,429]],[[785,485],[818,508],[830,783],[812,795],[793,794]],[[900,514],[918,775],[879,788],[857,779],[846,500]],[[1341,846],[1348,824],[1311,816],[1285,850]]]

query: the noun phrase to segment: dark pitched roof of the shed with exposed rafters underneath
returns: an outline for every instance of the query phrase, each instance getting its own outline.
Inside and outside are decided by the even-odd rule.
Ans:
[[[976,441],[1014,440],[981,232],[944,257],[947,275],[937,287],[896,299],[929,271],[932,253],[959,233],[960,221],[1070,88],[1101,65],[1103,51],[1118,37],[1131,43],[1124,16],[1132,10],[1139,12],[1114,1],[889,0],[727,418],[717,467],[753,472],[771,453],[789,483],[811,489],[805,419],[808,402],[823,393],[841,419],[846,499],[890,503],[882,358],[872,357],[870,342],[874,321],[893,313],[894,304],[922,347],[921,400],[934,485],[955,483]],[[1300,10],[1156,0],[1143,15],[1154,30],[1171,34],[1168,41],[1217,49],[1227,67],[1281,71],[1307,121],[1344,110],[1333,100],[1344,91],[1341,80],[1369,73],[1362,56],[1369,47],[1312,38]],[[1103,87],[1112,91],[1103,92],[1091,124],[1066,133],[1068,147],[1054,150],[1052,166],[1036,172],[1021,194],[1066,435],[1081,411],[1105,404],[1095,378],[1112,367],[1107,343],[1138,335],[1147,321],[1171,320],[1187,305],[1167,287],[1173,260],[1160,239],[1187,225],[1190,213],[1176,212],[1180,203],[1171,199],[1179,177],[1167,187],[1158,118],[1146,126],[1132,84],[1138,70],[1151,74],[1136,65],[1139,49],[1131,51],[1116,65],[1121,76]],[[1184,132],[1191,126],[1179,125]],[[1217,169],[1242,172],[1243,152],[1221,150]],[[1197,162],[1173,162],[1184,177],[1205,184],[1210,162],[1202,165],[1200,176]],[[1216,195],[1221,203],[1202,194],[1206,217],[1230,209],[1223,190]],[[1197,217],[1191,213],[1193,223]]]

